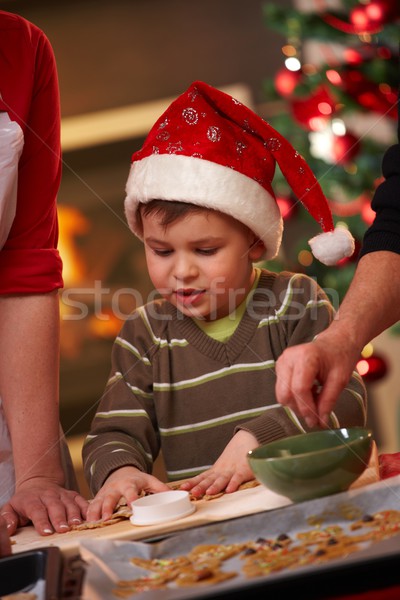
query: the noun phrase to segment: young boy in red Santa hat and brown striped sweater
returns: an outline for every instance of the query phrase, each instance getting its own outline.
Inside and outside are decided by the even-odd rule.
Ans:
[[[329,264],[352,253],[325,197],[292,146],[230,96],[192,84],[132,157],[125,209],[144,242],[160,300],[138,308],[115,341],[112,369],[83,459],[93,493],[88,519],[120,498],[169,489],[150,473],[162,449],[170,480],[194,495],[235,491],[253,478],[247,452],[308,431],[275,400],[283,350],[312,340],[332,319],[310,278],[254,267],[276,256],[282,219],[275,160],[321,224],[310,241]],[[322,241],[321,241],[322,240]],[[354,373],[330,425],[365,425]]]

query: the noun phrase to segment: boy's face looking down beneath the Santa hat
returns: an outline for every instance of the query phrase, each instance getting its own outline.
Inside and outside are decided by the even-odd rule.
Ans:
[[[223,213],[188,213],[166,228],[157,214],[142,215],[150,278],[160,294],[189,317],[227,316],[254,281],[263,252],[256,236]]]

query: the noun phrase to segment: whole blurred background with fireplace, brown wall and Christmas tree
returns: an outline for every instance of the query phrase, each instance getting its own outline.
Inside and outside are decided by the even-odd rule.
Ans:
[[[152,291],[123,200],[130,157],[154,121],[194,80],[228,91],[303,154],[335,222],[345,223],[359,245],[372,219],[383,152],[395,141],[399,6],[397,0],[6,0],[0,9],[43,29],[58,65],[60,401],[79,462],[113,339]],[[318,226],[279,171],[274,189],[285,233],[278,260],[265,266],[316,277],[337,307],[355,259],[334,268],[316,264],[307,240]],[[394,327],[371,342],[359,363],[370,421],[380,451],[395,452],[400,337]]]

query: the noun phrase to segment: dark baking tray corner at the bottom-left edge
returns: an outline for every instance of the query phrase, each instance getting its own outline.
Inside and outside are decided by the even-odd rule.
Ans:
[[[61,551],[54,546],[0,558],[0,599],[31,592],[37,600],[58,600],[61,569]]]

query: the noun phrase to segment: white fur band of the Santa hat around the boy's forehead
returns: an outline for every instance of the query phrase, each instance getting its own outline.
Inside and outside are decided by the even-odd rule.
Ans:
[[[263,258],[270,260],[278,253],[283,221],[276,200],[259,183],[230,167],[178,154],[151,154],[133,162],[126,184],[125,213],[139,238],[138,206],[155,199],[190,202],[226,213],[263,241]]]

